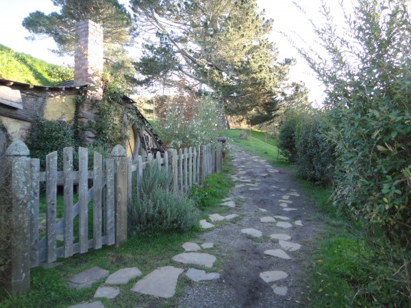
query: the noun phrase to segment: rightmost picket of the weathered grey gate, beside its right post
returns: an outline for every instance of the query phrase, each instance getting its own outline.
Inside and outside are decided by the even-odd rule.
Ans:
[[[105,159],[105,172],[107,175],[106,201],[105,201],[105,232],[107,236],[107,244],[113,245],[116,242],[115,238],[115,218],[114,218],[114,159]]]

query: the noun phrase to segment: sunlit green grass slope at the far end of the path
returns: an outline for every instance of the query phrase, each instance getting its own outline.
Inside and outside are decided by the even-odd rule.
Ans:
[[[240,138],[242,131],[247,133],[246,140]],[[249,129],[225,129],[223,136],[229,138],[234,144],[241,146],[245,151],[267,159],[271,164],[288,168],[291,166],[285,157],[279,154],[275,140],[267,138],[267,142],[265,142],[264,132],[251,130],[250,137]]]

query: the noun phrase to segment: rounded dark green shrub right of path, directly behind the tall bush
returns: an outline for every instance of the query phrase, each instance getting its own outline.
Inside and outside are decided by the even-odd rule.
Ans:
[[[314,110],[300,114],[295,133],[297,172],[321,185],[332,183],[335,164],[334,144],[322,133],[327,130],[324,117],[325,112]]]

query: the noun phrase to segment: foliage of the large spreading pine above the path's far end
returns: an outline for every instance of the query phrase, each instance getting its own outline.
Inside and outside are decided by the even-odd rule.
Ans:
[[[256,0],[132,0],[149,34],[136,63],[140,84],[175,86],[182,76],[214,92],[229,115],[251,124],[275,115],[293,60],[277,60],[271,19]]]

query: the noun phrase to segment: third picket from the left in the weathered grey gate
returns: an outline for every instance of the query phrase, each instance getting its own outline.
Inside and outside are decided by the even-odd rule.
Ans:
[[[73,255],[73,148],[63,149],[64,257]]]

